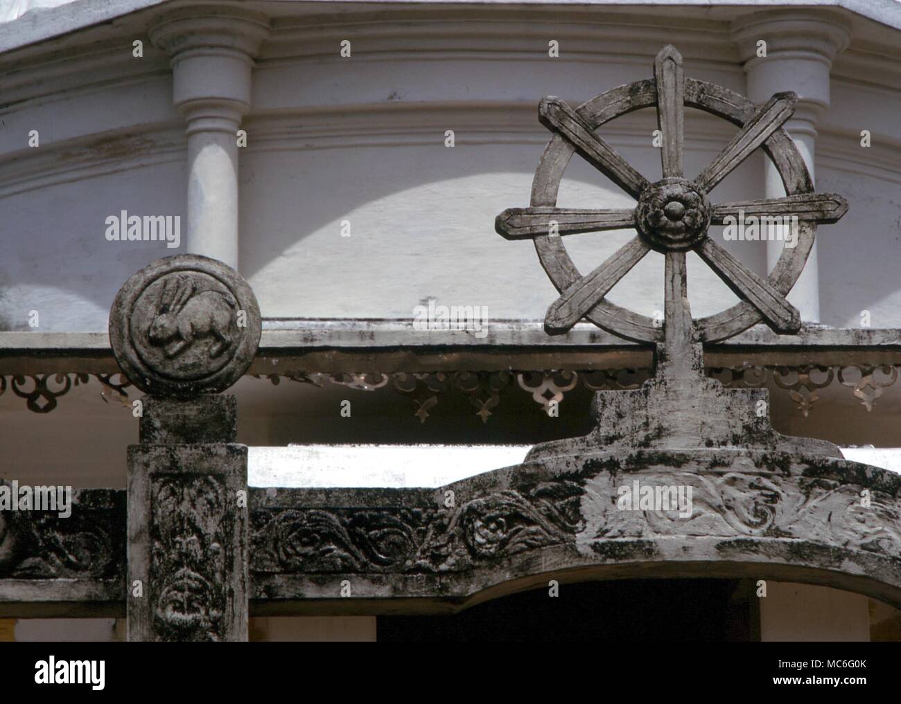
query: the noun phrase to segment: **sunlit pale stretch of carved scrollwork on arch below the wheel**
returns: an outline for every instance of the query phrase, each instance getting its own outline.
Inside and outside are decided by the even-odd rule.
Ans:
[[[846,470],[804,462],[793,466],[788,457],[775,462],[775,456],[762,456],[758,464],[771,462],[775,464],[769,471],[748,471],[740,462],[730,467],[725,458],[717,458],[701,471],[649,466],[634,474],[598,474],[587,482],[591,499],[585,509],[594,516],[591,535],[805,538],[901,556],[901,484],[894,475],[886,474],[884,485],[869,486],[868,501],[861,501],[856,483],[861,477],[852,478]],[[668,464],[665,457],[653,459],[653,465]],[[690,510],[682,515],[675,505],[672,510],[609,509],[610,497],[633,481],[646,487],[690,488]]]

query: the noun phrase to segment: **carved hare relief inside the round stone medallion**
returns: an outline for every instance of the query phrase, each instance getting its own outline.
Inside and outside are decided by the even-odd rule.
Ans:
[[[175,357],[195,338],[213,336],[210,358],[219,357],[232,345],[232,320],[237,303],[228,293],[196,292],[195,282],[187,276],[170,276],[159,294],[157,314],[150,323],[147,338],[164,345],[166,357]]]

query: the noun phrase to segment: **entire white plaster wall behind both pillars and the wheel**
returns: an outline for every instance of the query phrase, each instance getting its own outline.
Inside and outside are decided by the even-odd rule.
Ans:
[[[578,104],[650,77],[666,41],[686,54],[687,75],[745,89],[728,23],[662,8],[629,21],[604,7],[567,13],[432,7],[411,11],[408,22],[404,14],[353,23],[323,13],[322,26],[277,23],[254,73],[249,146],[241,149],[240,268],[263,314],[406,318],[434,297],[487,306],[492,319],[541,318],[555,292],[531,243],[494,232],[498,212],[528,203],[548,139],[538,100],[552,94]],[[337,56],[341,37],[353,42],[351,59]],[[560,41],[559,59],[547,56],[549,39]],[[171,107],[168,60],[149,45],[145,59],[132,60],[129,49],[123,40],[79,53],[71,66],[83,64],[81,73],[32,60],[0,74],[15,98],[0,109],[0,233],[10,243],[0,261],[0,328],[23,329],[28,311],[39,310],[43,330],[105,329],[124,279],[180,251],[104,239],[105,216],[123,208],[185,212],[183,124]],[[866,309],[874,326],[901,326],[893,275],[901,91],[886,70],[844,61],[818,140],[819,189],[851,203],[840,224],[821,228],[822,320],[833,325],[854,325]],[[653,179],[652,113],[611,122],[602,134]],[[864,128],[874,134],[869,151],[856,136]],[[41,131],[40,149],[25,146],[30,129]],[[453,149],[443,146],[446,130],[456,133]],[[734,131],[690,113],[687,174]],[[762,180],[756,155],[714,201],[758,197]],[[630,202],[573,159],[561,204]],[[345,219],[349,238],[341,238]],[[587,272],[627,237],[577,235],[567,245]],[[763,243],[731,248],[762,271]],[[646,257],[611,299],[649,315],[660,310],[660,259]],[[696,315],[734,301],[689,259]]]

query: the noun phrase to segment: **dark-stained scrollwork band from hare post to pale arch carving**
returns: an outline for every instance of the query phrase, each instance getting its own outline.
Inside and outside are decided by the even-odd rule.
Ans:
[[[487,492],[459,507],[252,510],[255,573],[441,573],[572,542],[577,482]]]

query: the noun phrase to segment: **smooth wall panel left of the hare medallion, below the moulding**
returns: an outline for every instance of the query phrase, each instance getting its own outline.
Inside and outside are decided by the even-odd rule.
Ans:
[[[178,163],[79,179],[0,198],[5,257],[0,259],[0,328],[41,332],[106,329],[129,271],[184,251],[164,242],[110,242],[105,219],[122,210],[180,215],[185,194]],[[184,234],[184,227],[182,228]]]

